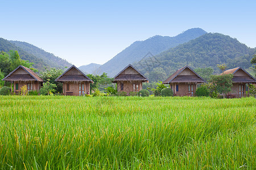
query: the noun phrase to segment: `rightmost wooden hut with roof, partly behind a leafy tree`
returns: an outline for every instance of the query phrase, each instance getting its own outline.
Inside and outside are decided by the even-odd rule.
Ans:
[[[248,85],[256,83],[255,78],[241,67],[226,70],[222,74],[233,74],[233,86],[228,93],[230,97],[246,96],[246,91],[249,91]]]

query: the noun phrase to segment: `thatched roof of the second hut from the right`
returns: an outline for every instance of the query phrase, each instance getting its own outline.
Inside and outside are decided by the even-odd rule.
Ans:
[[[185,69],[191,70],[195,75],[180,75]],[[164,80],[163,84],[169,83],[205,83],[205,80],[201,78],[195,71],[193,71],[189,66],[185,66],[175,71],[174,74],[169,76]]]

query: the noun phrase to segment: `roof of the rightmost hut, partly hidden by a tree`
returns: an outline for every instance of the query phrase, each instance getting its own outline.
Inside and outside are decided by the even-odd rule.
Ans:
[[[245,75],[243,76],[235,75],[235,73],[237,73],[237,71],[240,71],[240,70],[243,71]],[[256,83],[256,79],[241,67],[236,67],[234,69],[226,70],[221,75],[223,74],[234,74],[232,79],[234,83]]]

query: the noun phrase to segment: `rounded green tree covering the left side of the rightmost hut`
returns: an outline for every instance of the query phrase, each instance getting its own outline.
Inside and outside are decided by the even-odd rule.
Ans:
[[[216,86],[217,92],[223,94],[223,98],[231,91],[233,74],[212,75],[210,82]]]

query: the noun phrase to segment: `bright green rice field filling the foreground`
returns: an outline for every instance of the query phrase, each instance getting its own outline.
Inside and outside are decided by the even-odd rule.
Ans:
[[[0,168],[255,169],[255,101],[0,96]]]

